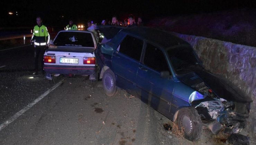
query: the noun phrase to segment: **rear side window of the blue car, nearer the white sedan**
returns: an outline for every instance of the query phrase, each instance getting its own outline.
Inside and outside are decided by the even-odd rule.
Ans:
[[[121,42],[119,52],[139,61],[143,48],[143,40],[127,35]]]

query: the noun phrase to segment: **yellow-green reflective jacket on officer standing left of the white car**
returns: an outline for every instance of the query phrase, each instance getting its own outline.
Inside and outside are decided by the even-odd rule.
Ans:
[[[34,45],[36,46],[44,46],[46,45],[46,43],[48,44],[50,41],[50,35],[47,28],[44,25],[36,25],[34,27],[34,32],[31,40],[34,41]]]

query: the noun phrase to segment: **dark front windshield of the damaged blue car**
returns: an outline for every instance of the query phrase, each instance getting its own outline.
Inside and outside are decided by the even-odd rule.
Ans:
[[[167,53],[177,75],[191,72],[191,66],[198,64],[198,60],[191,47],[170,48],[167,50]]]

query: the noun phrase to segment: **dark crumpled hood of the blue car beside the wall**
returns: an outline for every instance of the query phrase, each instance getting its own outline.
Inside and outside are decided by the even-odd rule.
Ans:
[[[179,79],[186,85],[192,87],[203,82],[219,98],[229,101],[252,102],[252,99],[242,91],[239,91],[239,88],[234,84],[227,83],[204,68],[200,66],[191,66],[190,70],[193,72],[179,77]]]

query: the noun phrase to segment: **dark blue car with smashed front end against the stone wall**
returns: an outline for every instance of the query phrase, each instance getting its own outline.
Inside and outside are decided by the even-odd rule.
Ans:
[[[176,122],[184,137],[197,141],[202,129],[239,133],[252,100],[204,69],[191,45],[170,32],[147,27],[98,27],[95,50],[103,90],[119,89]]]

